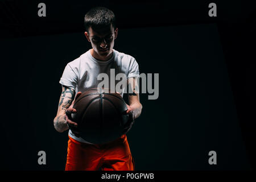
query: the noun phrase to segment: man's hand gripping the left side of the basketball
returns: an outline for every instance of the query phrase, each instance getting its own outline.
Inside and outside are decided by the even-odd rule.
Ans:
[[[65,112],[65,121],[67,121],[67,125],[68,125],[68,128],[71,129],[71,131],[74,133],[74,134],[79,134],[79,130],[77,129],[77,123],[76,122],[73,122],[71,119],[71,114],[72,113],[76,113],[76,109],[73,109],[73,105],[75,103],[75,101],[77,100],[77,98],[79,98],[79,96],[81,96],[81,92],[78,92],[76,94],[76,97],[75,97],[75,100],[73,100],[71,106],[68,107],[68,109],[66,110]]]

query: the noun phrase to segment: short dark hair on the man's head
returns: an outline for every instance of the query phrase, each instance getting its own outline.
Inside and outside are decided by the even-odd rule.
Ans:
[[[101,6],[93,7],[84,16],[84,26],[87,32],[89,27],[93,30],[97,30],[98,28],[111,26],[111,24],[115,30],[115,21],[116,19],[113,11]]]

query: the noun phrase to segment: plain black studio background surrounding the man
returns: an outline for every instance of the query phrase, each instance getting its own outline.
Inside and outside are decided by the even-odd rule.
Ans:
[[[134,56],[141,73],[159,73],[158,100],[141,94],[142,115],[127,134],[135,168],[255,169],[256,6],[214,1],[209,17],[210,2],[0,1],[1,169],[64,169],[68,133],[53,127],[59,79],[90,48],[83,19],[98,5],[118,18],[114,49]]]

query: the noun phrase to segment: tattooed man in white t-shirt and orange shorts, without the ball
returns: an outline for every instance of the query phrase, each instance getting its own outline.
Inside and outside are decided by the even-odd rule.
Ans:
[[[65,170],[134,170],[126,134],[105,144],[89,143],[76,135],[77,123],[70,117],[71,113],[76,113],[73,109],[74,101],[86,89],[97,87],[100,82],[97,80],[98,74],[106,73],[110,77],[110,69],[115,69],[115,74],[125,73],[127,85],[133,90],[133,93],[128,94],[127,114],[135,119],[142,111],[139,94],[135,89],[135,78],[139,77],[138,63],[134,57],[113,49],[118,32],[114,13],[105,7],[89,10],[85,15],[85,29],[86,39],[92,44],[92,49],[65,67],[60,78],[62,93],[59,108],[53,121],[57,131],[69,129]],[[123,96],[123,93],[120,94]]]

